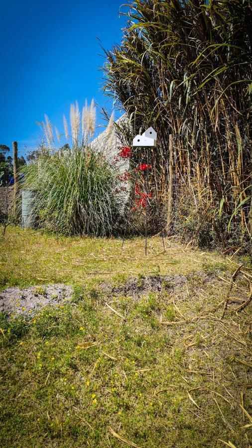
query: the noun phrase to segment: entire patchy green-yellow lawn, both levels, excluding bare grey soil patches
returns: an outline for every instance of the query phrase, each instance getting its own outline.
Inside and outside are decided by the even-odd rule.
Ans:
[[[248,282],[229,292],[235,267],[214,254],[120,244],[7,229],[2,287],[75,288],[32,318],[1,315],[0,446],[249,448],[251,304],[236,311]],[[159,293],[101,289],[177,273],[186,284]]]

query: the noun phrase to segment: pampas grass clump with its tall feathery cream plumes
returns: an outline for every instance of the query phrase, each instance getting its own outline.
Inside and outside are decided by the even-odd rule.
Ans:
[[[37,158],[23,170],[21,185],[34,198],[32,223],[56,234],[110,235],[121,216],[122,197],[118,171],[105,157],[106,147],[91,144],[94,100],[90,106],[86,100],[82,113],[77,101],[71,104],[70,126],[63,115],[64,133],[56,127],[53,131],[44,116],[45,121],[38,123],[43,143]]]

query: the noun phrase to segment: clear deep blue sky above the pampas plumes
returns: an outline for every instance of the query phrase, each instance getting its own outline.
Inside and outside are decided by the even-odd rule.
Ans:
[[[0,144],[35,148],[36,120],[62,115],[85,98],[110,108],[101,91],[101,44],[120,43],[121,0],[0,0]],[[101,121],[101,119],[100,119]],[[99,122],[99,118],[98,118]]]

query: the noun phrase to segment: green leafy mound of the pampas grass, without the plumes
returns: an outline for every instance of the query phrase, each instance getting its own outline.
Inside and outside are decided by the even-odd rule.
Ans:
[[[59,234],[110,235],[117,222],[116,172],[90,147],[41,156],[25,169],[24,190],[34,193],[39,227]]]

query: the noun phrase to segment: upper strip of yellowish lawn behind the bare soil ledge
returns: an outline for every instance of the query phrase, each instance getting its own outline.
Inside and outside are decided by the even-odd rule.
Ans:
[[[43,283],[125,281],[128,277],[150,274],[188,274],[192,271],[226,269],[217,254],[186,249],[166,240],[163,253],[159,237],[144,239],[58,237],[20,227],[7,227],[0,240],[0,287]]]

